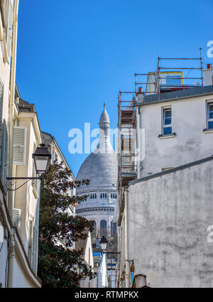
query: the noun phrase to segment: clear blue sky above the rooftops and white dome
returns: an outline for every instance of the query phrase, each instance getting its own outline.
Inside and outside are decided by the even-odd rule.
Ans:
[[[116,127],[119,89],[157,57],[207,58],[212,0],[20,0],[16,81],[40,126],[58,141],[72,171],[88,154],[70,154],[68,131],[97,128],[103,103]],[[205,65],[204,65],[205,66]]]

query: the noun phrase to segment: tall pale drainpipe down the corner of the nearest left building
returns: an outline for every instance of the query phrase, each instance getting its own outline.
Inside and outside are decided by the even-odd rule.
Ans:
[[[18,1],[14,0],[13,14],[13,42],[12,42],[12,63],[11,63],[11,85],[9,97],[9,176],[13,176],[13,114],[16,86],[16,50],[17,50],[17,30],[18,30]],[[8,209],[12,217],[13,213],[13,193],[8,192]]]

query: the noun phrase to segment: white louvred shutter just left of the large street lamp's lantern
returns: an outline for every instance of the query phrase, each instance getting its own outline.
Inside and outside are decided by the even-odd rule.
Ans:
[[[13,126],[13,165],[26,163],[26,127]]]

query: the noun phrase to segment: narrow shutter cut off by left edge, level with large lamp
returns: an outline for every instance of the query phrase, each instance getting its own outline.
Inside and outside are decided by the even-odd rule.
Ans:
[[[7,177],[7,158],[8,158],[8,133],[6,121],[4,119],[1,131],[1,182],[6,190],[6,177]]]

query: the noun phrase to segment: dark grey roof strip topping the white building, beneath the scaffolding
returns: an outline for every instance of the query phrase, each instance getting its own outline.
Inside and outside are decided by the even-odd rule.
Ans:
[[[159,95],[146,95],[144,101],[139,103],[140,106],[153,104],[157,102],[176,101],[177,99],[186,99],[190,97],[201,97],[203,95],[212,95],[213,85],[204,87],[195,87],[185,90],[176,90],[172,92],[164,92]]]

